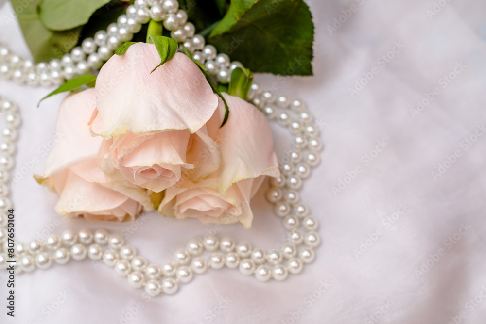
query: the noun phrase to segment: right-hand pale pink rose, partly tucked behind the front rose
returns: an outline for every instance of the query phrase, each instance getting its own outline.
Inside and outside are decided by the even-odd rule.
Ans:
[[[205,223],[241,222],[250,227],[253,213],[250,198],[265,175],[278,177],[277,157],[273,150],[272,130],[255,106],[239,97],[223,94],[230,113],[220,128],[225,106],[207,123],[208,135],[218,139],[223,162],[208,178],[194,182],[182,178],[167,188],[158,211],[169,217],[198,218]]]

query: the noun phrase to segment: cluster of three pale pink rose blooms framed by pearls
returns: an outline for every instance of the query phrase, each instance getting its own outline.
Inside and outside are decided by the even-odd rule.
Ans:
[[[154,45],[114,55],[96,86],[63,101],[55,144],[39,183],[55,190],[61,215],[133,220],[142,210],[250,227],[250,198],[278,177],[262,113],[224,94],[225,106],[190,58],[160,62]]]

